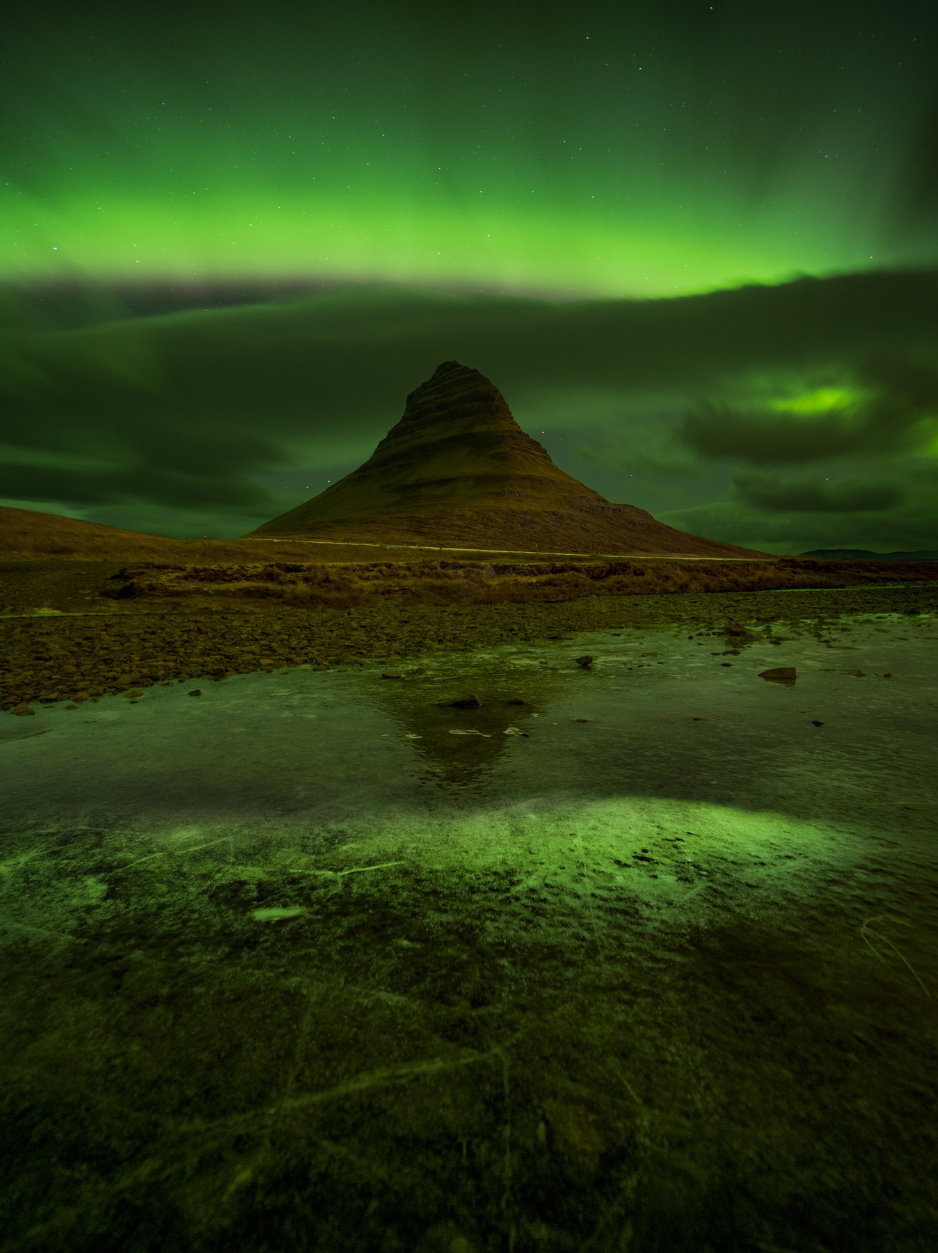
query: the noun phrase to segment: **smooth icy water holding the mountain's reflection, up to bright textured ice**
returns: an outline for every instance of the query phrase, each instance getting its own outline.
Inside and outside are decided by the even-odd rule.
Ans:
[[[301,668],[153,687],[133,705],[39,707],[3,719],[5,796],[28,822],[94,808],[144,824],[177,813],[302,824],[331,811],[373,822],[532,793],[848,821],[914,806],[930,778],[934,625],[840,625],[591,633],[413,663],[394,680],[379,665]],[[759,678],[778,668],[796,682]]]

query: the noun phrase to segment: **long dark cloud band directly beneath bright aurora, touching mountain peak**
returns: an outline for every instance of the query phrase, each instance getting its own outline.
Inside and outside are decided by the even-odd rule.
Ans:
[[[48,302],[46,302],[48,303]],[[877,345],[930,345],[938,272],[796,278],[655,301],[523,297],[346,287],[287,304],[184,311],[105,322],[75,335],[24,335],[33,368],[61,381],[147,391],[257,419],[323,405],[388,405],[456,357],[503,390],[667,381],[693,387],[740,370],[785,370],[869,356]],[[8,345],[8,352],[10,346]],[[50,380],[51,381],[51,380]],[[406,391],[405,391],[406,395]]]

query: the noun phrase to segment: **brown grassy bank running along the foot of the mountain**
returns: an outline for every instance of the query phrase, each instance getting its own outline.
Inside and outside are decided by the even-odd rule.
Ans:
[[[938,578],[938,563],[446,551],[401,545],[172,540],[0,507],[6,611],[184,601],[303,609],[559,603],[660,593],[845,588]],[[440,551],[440,550],[437,550]],[[99,600],[99,594],[105,598]]]

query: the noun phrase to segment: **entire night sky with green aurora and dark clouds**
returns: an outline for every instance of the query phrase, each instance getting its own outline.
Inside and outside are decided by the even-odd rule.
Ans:
[[[610,500],[938,548],[938,11],[18,6],[0,504],[243,535],[441,361]]]

